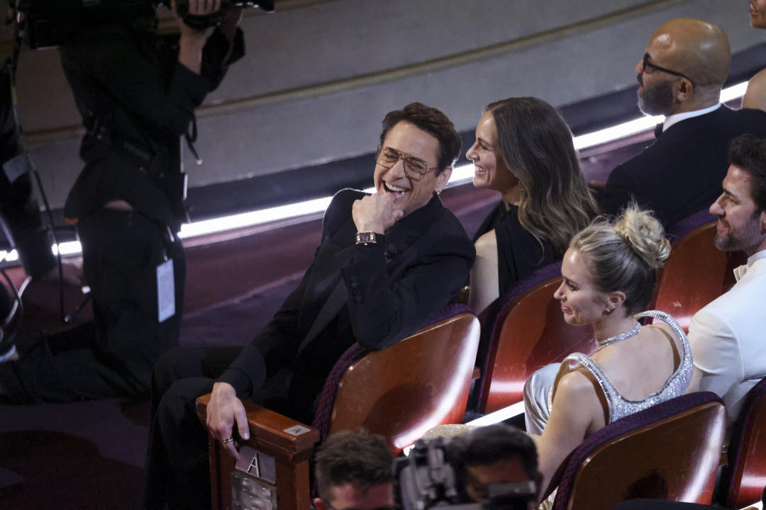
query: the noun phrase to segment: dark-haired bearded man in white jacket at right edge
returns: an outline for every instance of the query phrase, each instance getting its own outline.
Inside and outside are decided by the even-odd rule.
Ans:
[[[731,423],[748,390],[766,377],[766,140],[735,138],[728,161],[723,193],[710,206],[710,213],[718,216],[715,247],[741,250],[748,263],[735,269],[737,283],[731,290],[692,317],[694,375],[689,391],[719,395]]]

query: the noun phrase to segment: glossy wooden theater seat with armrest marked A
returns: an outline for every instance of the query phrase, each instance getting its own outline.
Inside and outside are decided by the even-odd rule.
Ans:
[[[273,497],[279,508],[309,508],[309,456],[320,437],[337,430],[364,427],[399,452],[430,427],[460,423],[478,345],[479,320],[465,305],[448,305],[429,326],[393,346],[378,351],[350,347],[327,379],[313,427],[243,401],[250,424],[250,440],[244,444],[250,450],[242,465],[267,467],[259,467],[261,476],[254,469],[244,475],[210,437],[214,510],[233,508],[232,487],[246,498],[254,497],[250,492]],[[203,422],[208,401],[209,395],[197,400]],[[264,473],[273,475],[265,478]]]

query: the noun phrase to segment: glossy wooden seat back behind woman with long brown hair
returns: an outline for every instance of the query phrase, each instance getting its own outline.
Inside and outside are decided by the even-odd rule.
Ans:
[[[482,333],[477,357],[481,376],[473,409],[491,413],[524,398],[532,372],[560,362],[571,352],[595,349],[591,326],[570,326],[553,293],[561,284],[561,262],[538,269],[520,280],[499,300],[499,312]]]

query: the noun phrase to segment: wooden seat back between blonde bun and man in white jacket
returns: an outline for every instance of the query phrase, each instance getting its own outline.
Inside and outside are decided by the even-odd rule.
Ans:
[[[714,218],[702,211],[668,229],[668,238],[676,241],[660,274],[654,308],[672,315],[685,331],[700,308],[732,287],[732,270],[745,263],[741,252],[715,248]]]

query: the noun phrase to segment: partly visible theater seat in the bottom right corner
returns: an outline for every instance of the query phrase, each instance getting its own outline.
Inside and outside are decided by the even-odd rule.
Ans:
[[[719,502],[744,508],[761,499],[766,486],[766,379],[748,391],[732,427],[728,465],[719,484]]]

